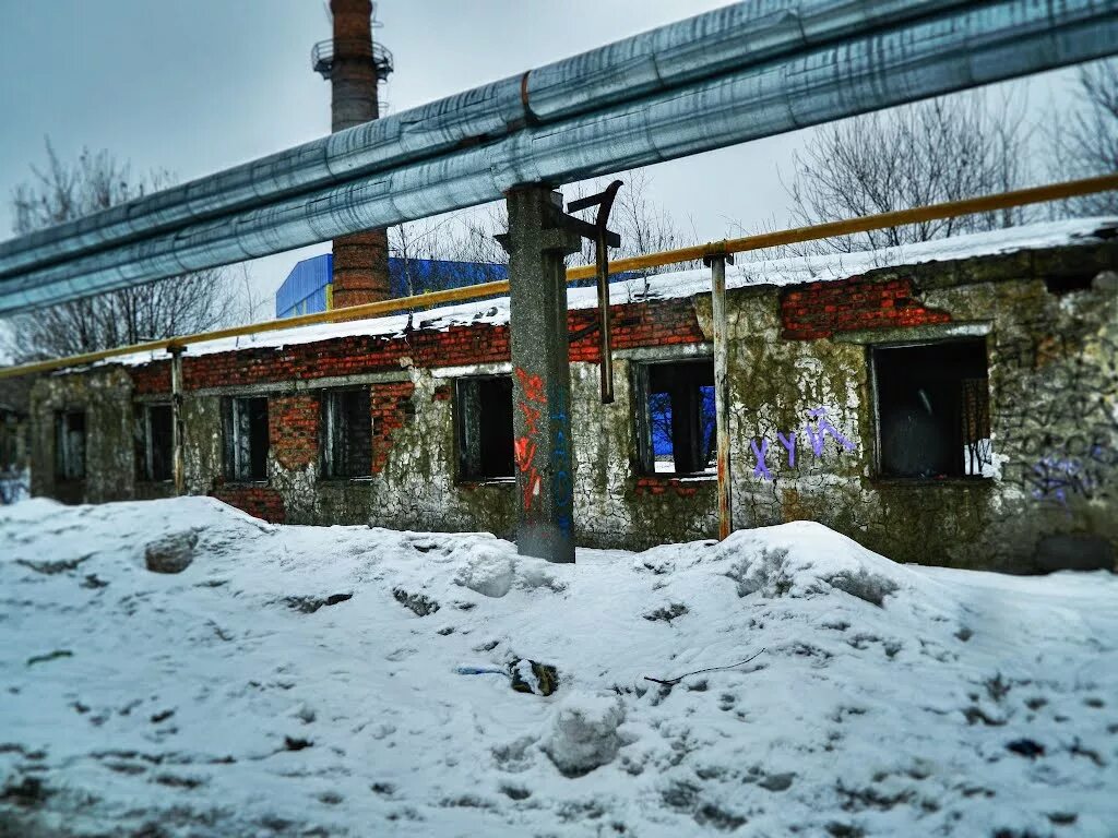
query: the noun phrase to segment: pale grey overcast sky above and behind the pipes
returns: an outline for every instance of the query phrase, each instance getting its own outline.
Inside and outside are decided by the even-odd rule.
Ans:
[[[375,37],[395,56],[390,113],[521,73],[724,0],[383,0]],[[330,131],[330,85],[310,66],[330,37],[324,0],[0,0],[0,239],[10,197],[49,136],[72,160],[107,149],[180,180]],[[1034,80],[1036,106],[1068,72]],[[700,239],[784,221],[779,180],[805,132],[652,168],[653,197]],[[271,293],[305,255],[254,264]]]

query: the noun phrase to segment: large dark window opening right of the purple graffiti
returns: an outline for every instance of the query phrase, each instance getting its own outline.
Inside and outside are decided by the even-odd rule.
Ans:
[[[883,477],[988,476],[986,342],[872,350]]]

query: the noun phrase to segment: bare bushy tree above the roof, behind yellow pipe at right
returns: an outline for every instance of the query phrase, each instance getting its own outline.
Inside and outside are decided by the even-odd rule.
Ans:
[[[866,114],[818,128],[787,187],[792,222],[814,225],[1001,192],[1029,178],[1029,125],[1013,94],[983,92]],[[854,253],[1021,223],[1025,211],[925,221],[814,242]]]

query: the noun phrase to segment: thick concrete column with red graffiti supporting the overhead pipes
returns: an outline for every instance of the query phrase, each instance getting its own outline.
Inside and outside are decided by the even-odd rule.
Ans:
[[[563,257],[577,234],[557,227],[562,196],[548,187],[506,194],[512,331],[513,434],[517,460],[517,549],[551,562],[575,561],[570,355]]]

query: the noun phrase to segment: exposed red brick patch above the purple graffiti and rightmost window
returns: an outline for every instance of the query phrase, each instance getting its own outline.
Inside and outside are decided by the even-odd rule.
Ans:
[[[946,312],[926,308],[912,298],[912,282],[875,283],[851,277],[812,283],[780,294],[781,337],[809,341],[835,332],[947,323]]]

